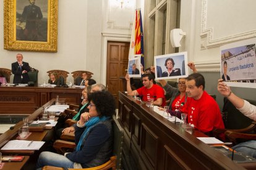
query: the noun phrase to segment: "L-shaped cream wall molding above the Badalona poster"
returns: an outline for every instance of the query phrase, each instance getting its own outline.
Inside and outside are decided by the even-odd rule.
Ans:
[[[202,15],[201,15],[201,49],[209,49],[213,47],[219,47],[223,44],[228,44],[235,41],[241,41],[243,39],[255,38],[256,30],[245,31],[244,33],[234,34],[232,36],[226,36],[219,39],[213,39],[214,28],[207,28],[207,2],[208,0],[202,0]]]

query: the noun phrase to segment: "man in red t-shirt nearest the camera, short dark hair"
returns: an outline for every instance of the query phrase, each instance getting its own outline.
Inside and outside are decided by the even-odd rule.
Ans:
[[[224,129],[220,108],[205,90],[205,78],[193,73],[186,78],[187,103],[182,109],[187,113],[187,122],[202,132]]]

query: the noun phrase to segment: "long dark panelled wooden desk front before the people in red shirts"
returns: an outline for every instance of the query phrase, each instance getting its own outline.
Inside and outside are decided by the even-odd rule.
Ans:
[[[178,124],[119,92],[119,117],[124,127],[124,169],[244,169]]]

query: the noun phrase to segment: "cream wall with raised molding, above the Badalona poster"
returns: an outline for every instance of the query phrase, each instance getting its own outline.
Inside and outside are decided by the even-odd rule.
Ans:
[[[255,37],[254,0],[181,0],[180,51],[188,51],[199,71],[220,71],[220,46]]]

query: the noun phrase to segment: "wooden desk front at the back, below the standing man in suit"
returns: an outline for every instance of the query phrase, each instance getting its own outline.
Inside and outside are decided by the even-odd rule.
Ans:
[[[0,115],[28,115],[59,95],[66,103],[79,104],[83,89],[64,87],[0,88]]]

